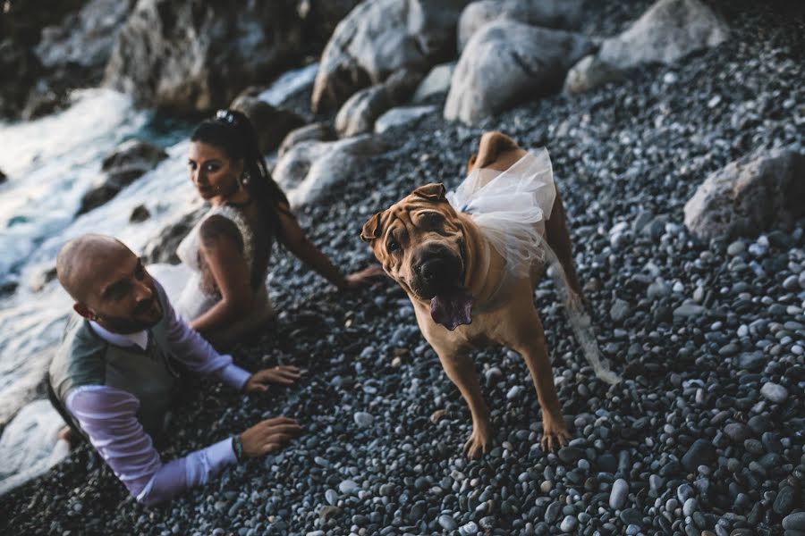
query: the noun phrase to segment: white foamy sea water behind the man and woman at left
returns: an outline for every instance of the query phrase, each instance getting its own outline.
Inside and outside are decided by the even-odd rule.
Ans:
[[[290,71],[260,98],[282,104],[292,92],[309,86],[315,74],[315,65]],[[11,296],[0,295],[0,424],[20,412],[0,438],[0,494],[66,455],[64,441],[56,442],[53,432],[61,418],[47,401],[31,402],[72,306],[58,281],[38,284],[55,267],[59,248],[68,239],[100,232],[140,253],[167,223],[199,203],[187,178],[189,142],[183,140],[165,147],[169,158],[152,172],[105,205],[75,217],[81,196],[100,176],[104,157],[125,139],[148,138],[151,119],[152,113],[134,109],[126,96],[91,89],[76,92],[64,112],[0,123],[0,170],[8,176],[0,184],[0,285],[18,283]],[[174,133],[173,138],[186,135]],[[150,217],[129,222],[139,205]],[[14,455],[21,451],[30,456]]]

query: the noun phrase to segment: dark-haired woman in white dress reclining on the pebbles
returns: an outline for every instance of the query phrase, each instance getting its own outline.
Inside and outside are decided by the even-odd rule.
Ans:
[[[188,167],[212,208],[179,245],[182,264],[152,264],[148,272],[191,328],[216,347],[232,345],[275,315],[266,290],[275,241],[341,290],[382,273],[372,266],[344,277],[309,241],[243,113],[221,110],[202,121],[191,136]]]

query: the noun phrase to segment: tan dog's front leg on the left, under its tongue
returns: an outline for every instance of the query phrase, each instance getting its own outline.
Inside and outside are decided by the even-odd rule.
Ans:
[[[481,393],[475,363],[462,349],[438,348],[431,344],[445,373],[462,392],[462,397],[470,407],[472,433],[464,444],[464,454],[476,458],[492,448],[492,425],[489,423],[489,408]]]

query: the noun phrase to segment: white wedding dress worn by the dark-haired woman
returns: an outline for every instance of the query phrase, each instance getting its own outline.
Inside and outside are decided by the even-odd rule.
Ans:
[[[174,309],[186,322],[191,322],[201,314],[206,313],[212,306],[221,299],[220,296],[210,294],[205,291],[202,285],[202,273],[200,264],[200,239],[199,229],[202,223],[206,222],[211,216],[223,216],[241,233],[243,242],[243,256],[249,266],[250,273],[254,271],[255,246],[253,234],[249,225],[243,218],[238,209],[233,206],[221,205],[213,207],[207,214],[196,223],[179,247],[176,248],[176,255],[182,264],[150,264],[147,267],[148,273],[159,281],[168,298],[171,300]],[[210,335],[212,339],[225,339],[227,342],[234,341],[247,332],[258,328],[267,320],[274,317],[274,308],[268,299],[266,289],[267,268],[261,274],[261,283],[255,290],[250,313],[244,318],[233,322],[225,328],[214,330]]]

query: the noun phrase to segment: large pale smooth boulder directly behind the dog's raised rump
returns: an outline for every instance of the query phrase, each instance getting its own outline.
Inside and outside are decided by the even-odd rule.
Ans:
[[[577,33],[489,22],[470,38],[455,67],[445,119],[474,124],[523,97],[549,95],[562,87],[570,66],[593,47]]]

